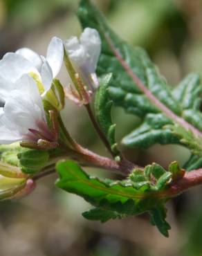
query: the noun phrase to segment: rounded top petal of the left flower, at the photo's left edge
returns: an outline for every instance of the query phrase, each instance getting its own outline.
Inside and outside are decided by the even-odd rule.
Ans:
[[[17,53],[6,53],[0,61],[0,74],[1,76],[10,81],[15,82],[24,73],[38,73],[35,66],[26,60],[25,57]]]

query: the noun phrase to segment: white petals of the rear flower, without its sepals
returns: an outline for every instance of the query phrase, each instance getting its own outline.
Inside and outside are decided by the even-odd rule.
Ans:
[[[93,28],[85,28],[80,36],[71,37],[64,42],[68,57],[80,75],[84,84],[89,85],[94,90],[98,87],[98,79],[95,69],[101,51],[101,41],[98,31]]]

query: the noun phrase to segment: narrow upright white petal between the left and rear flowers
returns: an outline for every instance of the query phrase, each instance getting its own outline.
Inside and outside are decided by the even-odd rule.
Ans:
[[[50,65],[53,72],[53,77],[59,73],[62,66],[64,56],[63,42],[57,37],[53,37],[48,46],[48,51],[46,55],[46,60]]]

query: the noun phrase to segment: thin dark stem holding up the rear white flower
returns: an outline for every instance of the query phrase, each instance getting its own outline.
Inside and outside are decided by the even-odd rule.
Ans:
[[[97,131],[98,136],[100,137],[100,139],[104,143],[105,147],[107,147],[107,150],[109,151],[109,154],[111,154],[111,156],[115,157],[116,154],[114,154],[112,152],[111,146],[109,145],[109,142],[108,142],[107,138],[104,136],[103,132],[100,130],[98,122],[95,120],[95,117],[93,115],[90,104],[86,104],[85,107],[86,107],[87,112],[89,113],[89,118],[91,119],[93,127],[95,128],[95,131]]]

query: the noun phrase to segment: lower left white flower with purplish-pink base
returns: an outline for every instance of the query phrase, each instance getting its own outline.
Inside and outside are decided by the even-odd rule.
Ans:
[[[42,98],[35,80],[28,74],[14,82],[16,89],[0,108],[0,144],[19,140],[51,140]]]

